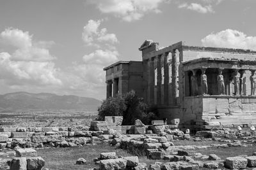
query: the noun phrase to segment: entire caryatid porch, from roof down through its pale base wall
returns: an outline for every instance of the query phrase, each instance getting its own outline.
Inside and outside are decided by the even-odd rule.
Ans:
[[[256,124],[256,60],[201,58],[182,67],[185,120]]]

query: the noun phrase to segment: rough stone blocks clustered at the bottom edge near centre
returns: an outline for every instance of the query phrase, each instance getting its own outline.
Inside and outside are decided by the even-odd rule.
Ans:
[[[147,164],[139,163],[138,157],[117,157],[115,152],[100,153],[95,163],[99,164],[99,170],[147,168]]]

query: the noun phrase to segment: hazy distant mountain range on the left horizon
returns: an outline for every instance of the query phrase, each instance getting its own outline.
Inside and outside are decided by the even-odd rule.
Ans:
[[[101,101],[90,97],[58,96],[51,93],[14,92],[0,95],[0,112],[33,110],[97,111]]]

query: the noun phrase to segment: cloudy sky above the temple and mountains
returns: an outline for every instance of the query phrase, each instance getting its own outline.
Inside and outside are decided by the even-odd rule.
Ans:
[[[1,0],[0,94],[104,99],[103,67],[141,60],[145,39],[256,50],[255,9],[255,0]]]

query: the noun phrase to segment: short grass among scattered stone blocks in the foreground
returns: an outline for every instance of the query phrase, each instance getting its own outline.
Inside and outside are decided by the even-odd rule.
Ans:
[[[176,143],[176,142],[175,142]],[[212,141],[204,142],[192,142],[186,141],[185,143],[176,143],[175,145],[211,145]],[[213,142],[217,143],[217,142]],[[226,157],[234,157],[237,155],[252,155],[255,152],[255,145],[248,145],[246,147],[230,147],[230,148],[207,148],[207,149],[196,149],[195,152],[202,153],[203,155],[216,154],[221,159]],[[38,155],[45,159],[45,167],[49,169],[90,169],[93,167],[99,167],[95,165],[93,159],[99,157],[102,152],[116,152],[118,156],[127,157],[131,156],[132,153],[129,151],[121,150],[108,144],[100,145],[86,145],[83,147],[76,148],[44,148],[37,150]],[[88,161],[86,165],[76,165],[76,160],[83,157]],[[150,160],[145,156],[139,156],[140,162],[146,163],[148,166],[154,164],[154,162],[167,162],[166,160]],[[200,159],[198,159],[200,160]],[[205,160],[206,161],[206,160]],[[202,168],[205,169],[205,168]]]

